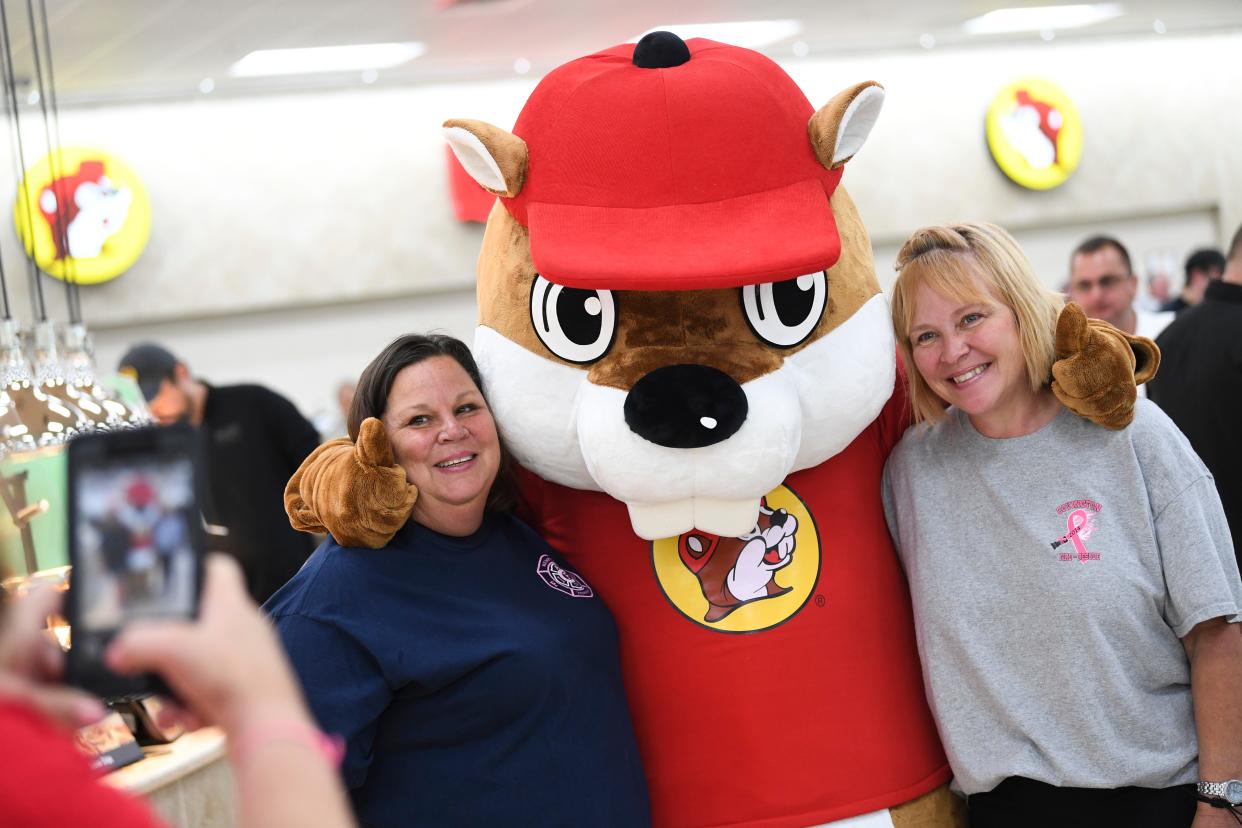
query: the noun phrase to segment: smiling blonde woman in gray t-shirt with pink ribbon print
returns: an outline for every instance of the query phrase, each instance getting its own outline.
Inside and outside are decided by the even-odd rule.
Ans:
[[[1242,777],[1242,583],[1207,469],[1146,400],[1109,431],[1053,396],[1062,299],[1000,227],[925,227],[897,267],[919,425],[884,506],[971,824],[1237,826],[1228,786],[1196,804]]]

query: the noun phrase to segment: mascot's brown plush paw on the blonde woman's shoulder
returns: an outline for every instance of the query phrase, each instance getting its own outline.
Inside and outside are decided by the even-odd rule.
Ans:
[[[1052,392],[1079,417],[1105,428],[1125,428],[1134,420],[1138,386],[1155,376],[1158,367],[1160,349],[1146,336],[1088,319],[1073,302],[1062,309]]]

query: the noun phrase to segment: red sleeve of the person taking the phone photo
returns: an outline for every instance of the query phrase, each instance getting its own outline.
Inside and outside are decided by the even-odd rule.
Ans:
[[[5,826],[165,828],[145,802],[101,782],[72,736],[35,710],[0,703],[0,732]]]

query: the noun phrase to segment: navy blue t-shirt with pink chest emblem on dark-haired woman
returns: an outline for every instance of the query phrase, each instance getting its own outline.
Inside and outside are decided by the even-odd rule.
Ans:
[[[650,824],[612,617],[518,519],[329,538],[265,608],[361,824]]]

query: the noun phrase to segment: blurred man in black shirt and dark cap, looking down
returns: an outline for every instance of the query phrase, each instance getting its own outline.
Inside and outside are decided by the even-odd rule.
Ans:
[[[319,444],[319,434],[274,391],[210,385],[152,343],[129,349],[119,371],[138,381],[161,425],[199,427],[206,466],[202,515],[229,529],[220,545],[241,562],[251,596],[262,603],[314,550],[310,535],[289,526],[284,484]]]

